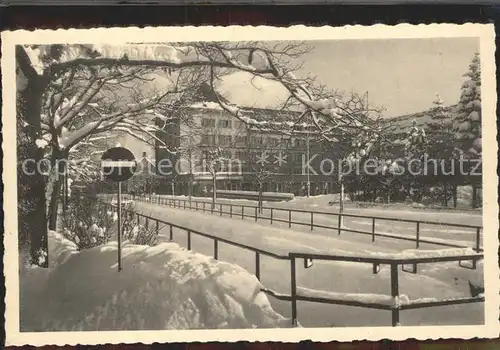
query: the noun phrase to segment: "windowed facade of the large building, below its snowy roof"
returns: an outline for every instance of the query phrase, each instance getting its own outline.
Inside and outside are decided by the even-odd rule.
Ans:
[[[272,112],[270,112],[272,113]],[[271,119],[272,116],[269,116]],[[214,147],[220,147],[227,163],[217,174],[217,188],[227,190],[256,190],[255,159],[264,151],[286,156],[286,164],[276,170],[264,183],[265,191],[306,193],[307,175],[303,164],[307,162],[307,141],[304,136],[284,136],[277,132],[263,132],[250,127],[220,109],[192,108],[189,118],[177,120],[168,125],[162,141],[180,152],[171,154],[160,143],[155,149],[156,167],[160,163],[173,165],[171,174],[161,176],[159,191],[171,193],[171,182],[175,182],[176,194],[187,194],[189,182],[195,195],[211,191],[212,175],[207,171],[206,154]],[[314,139],[309,140],[311,166],[317,173],[310,172],[311,193],[330,193],[338,190],[337,173],[320,174],[320,163],[326,157],[338,159],[339,149],[333,149]],[[270,161],[275,161],[271,159]],[[168,159],[169,161],[165,161]],[[177,165],[177,166],[176,166]]]

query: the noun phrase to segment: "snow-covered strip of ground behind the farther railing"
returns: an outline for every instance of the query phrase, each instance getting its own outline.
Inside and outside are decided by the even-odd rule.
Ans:
[[[172,197],[162,196],[164,199],[172,199]],[[271,223],[271,216],[273,217],[273,226],[288,228],[288,221],[292,221],[291,229],[295,231],[301,232],[309,232],[310,230],[310,222],[311,222],[311,214],[308,212],[293,212],[289,213],[288,209],[292,210],[310,210],[310,211],[319,211],[326,214],[314,214],[313,222],[314,225],[325,226],[327,228],[314,227],[313,231],[315,233],[326,234],[328,236],[332,236],[333,234],[337,234],[336,228],[338,227],[338,216],[337,215],[329,215],[336,214],[338,212],[338,208],[331,207],[327,205],[328,203],[323,203],[326,199],[330,198],[329,196],[318,196],[313,199],[297,199],[290,202],[277,202],[277,203],[265,203],[265,206],[270,206],[273,208],[282,208],[283,210],[271,210],[264,209],[262,213],[258,213],[258,221],[267,221]],[[189,210],[189,203],[186,201],[186,197],[179,197],[180,202],[176,202],[176,206],[181,206],[184,208],[184,205],[187,210]],[[210,213],[210,204],[209,199],[207,198],[196,198],[196,201],[207,203],[206,205],[201,205],[199,203],[197,211]],[[319,203],[319,204],[318,204]],[[232,216],[234,218],[241,218],[241,210],[240,205],[252,205],[255,206],[255,202],[248,200],[226,200],[219,199],[214,212],[216,215],[219,215],[219,212],[222,210],[222,216],[230,216],[230,212],[232,212]],[[231,207],[232,206],[232,207]],[[205,208],[205,209],[204,209]],[[195,203],[192,203],[192,209],[196,211]],[[243,209],[244,215],[248,216],[247,220],[252,220],[255,216],[255,210],[251,207],[246,207]],[[382,218],[393,218],[400,220],[418,220],[418,221],[431,221],[437,223],[445,223],[445,224],[459,224],[459,225],[472,225],[472,226],[481,226],[482,217],[481,215],[477,215],[476,212],[469,213],[454,213],[454,212],[437,212],[437,211],[404,211],[404,210],[388,210],[381,208],[346,208],[345,214],[351,215],[362,215],[368,216],[367,218],[363,217],[345,217],[344,218],[344,226],[351,230],[363,231],[363,232],[371,232],[372,231],[372,219],[370,216],[376,216],[375,220],[375,232],[382,234],[391,234],[394,236],[403,236],[411,239],[416,238],[416,223],[407,222],[407,221],[395,221],[395,220],[384,220]],[[359,235],[353,234],[349,232],[343,232],[342,235]],[[371,237],[369,235],[364,235],[365,241],[371,241]],[[440,226],[440,225],[432,225],[432,224],[419,224],[419,237],[423,240],[442,242],[442,243],[451,243],[458,246],[464,247],[475,247],[476,245],[476,229],[475,228],[467,228],[467,227],[455,227],[455,226]],[[379,237],[376,237],[376,240],[379,240]],[[392,241],[392,240],[391,240]],[[482,232],[481,232],[481,246],[482,246]],[[385,240],[384,240],[385,242]],[[390,244],[390,243],[389,243]],[[410,249],[415,247],[415,242],[412,241],[404,241],[398,243],[398,246],[403,249]],[[435,245],[429,244],[420,244],[420,248],[424,249],[435,249]]]

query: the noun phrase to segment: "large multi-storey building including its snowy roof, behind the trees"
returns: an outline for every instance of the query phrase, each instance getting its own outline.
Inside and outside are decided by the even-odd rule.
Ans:
[[[308,182],[312,195],[338,189],[333,161],[323,161],[339,158],[331,145],[308,133],[310,126],[304,122],[293,136],[280,129],[279,125],[296,120],[299,112],[246,108],[244,117],[251,122],[243,122],[221,108],[217,98],[222,97],[208,85],[202,85],[197,96],[199,100],[158,135],[163,141],[155,148],[161,178],[158,193],[210,192],[214,154],[220,159],[218,190],[256,191],[262,185],[264,191],[305,195]]]

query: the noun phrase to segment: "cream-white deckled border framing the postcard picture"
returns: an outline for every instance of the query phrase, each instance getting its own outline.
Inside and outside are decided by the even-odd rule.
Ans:
[[[4,181],[4,274],[6,277],[6,345],[65,345],[102,343],[153,343],[190,341],[352,341],[437,339],[474,337],[493,338],[499,335],[499,269],[497,143],[496,143],[496,82],[494,62],[494,27],[492,24],[382,24],[345,27],[159,27],[159,28],[99,28],[70,30],[36,30],[2,33],[3,93],[3,181]],[[17,184],[15,113],[15,59],[16,44],[101,43],[122,44],[172,41],[245,41],[245,40],[350,40],[389,38],[453,38],[480,39],[483,107],[483,164],[484,174],[484,271],[485,271],[485,325],[480,326],[425,326],[425,327],[342,327],[248,330],[170,330],[170,331],[114,331],[114,332],[19,332],[19,275],[17,249]],[[43,301],[41,301],[43,302]]]

